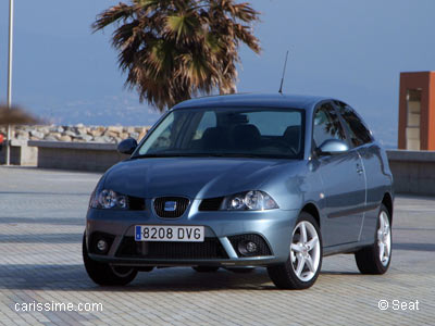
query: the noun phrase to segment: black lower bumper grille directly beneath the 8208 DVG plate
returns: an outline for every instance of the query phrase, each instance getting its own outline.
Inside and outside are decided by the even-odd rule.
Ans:
[[[204,238],[203,242],[154,242],[135,241],[133,237],[124,237],[116,256],[167,260],[228,259],[217,238]]]

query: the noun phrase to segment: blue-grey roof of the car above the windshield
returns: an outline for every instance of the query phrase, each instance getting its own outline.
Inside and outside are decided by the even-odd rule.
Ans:
[[[235,93],[187,100],[173,109],[204,106],[271,106],[311,110],[316,103],[332,98],[288,93]]]

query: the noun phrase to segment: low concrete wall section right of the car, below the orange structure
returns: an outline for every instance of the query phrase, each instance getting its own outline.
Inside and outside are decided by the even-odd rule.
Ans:
[[[387,151],[395,191],[435,196],[435,151]]]

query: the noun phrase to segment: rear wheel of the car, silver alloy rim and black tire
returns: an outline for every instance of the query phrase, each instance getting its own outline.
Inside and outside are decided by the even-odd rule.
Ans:
[[[362,274],[381,275],[387,272],[391,261],[390,221],[387,208],[381,204],[374,243],[355,253],[358,269]]]

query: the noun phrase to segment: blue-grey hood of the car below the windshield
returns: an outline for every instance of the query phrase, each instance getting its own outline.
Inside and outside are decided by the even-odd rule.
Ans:
[[[238,158],[152,158],[121,162],[107,172],[104,188],[156,198],[203,199],[262,190],[265,180],[300,161]],[[290,166],[289,166],[290,165]],[[289,170],[290,168],[290,170]]]

